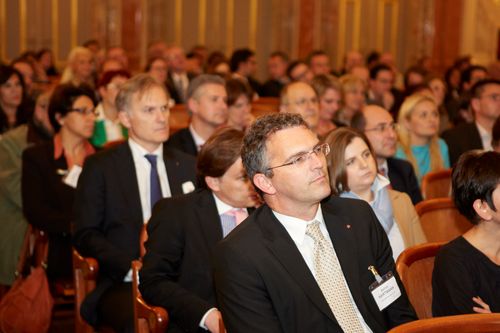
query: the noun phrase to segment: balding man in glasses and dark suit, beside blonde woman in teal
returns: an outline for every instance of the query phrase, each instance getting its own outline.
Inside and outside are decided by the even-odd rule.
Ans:
[[[365,133],[377,158],[378,170],[391,181],[393,189],[405,192],[414,205],[422,201],[415,171],[410,162],[393,157],[396,154],[396,124],[392,115],[377,105],[366,105],[354,115],[351,126]]]

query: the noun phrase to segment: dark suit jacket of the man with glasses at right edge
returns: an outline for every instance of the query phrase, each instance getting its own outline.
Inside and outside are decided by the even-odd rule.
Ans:
[[[476,123],[463,123],[441,135],[448,145],[450,164],[457,163],[460,155],[473,149],[484,149]]]

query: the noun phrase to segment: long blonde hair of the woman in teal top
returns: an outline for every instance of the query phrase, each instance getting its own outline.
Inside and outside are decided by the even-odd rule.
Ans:
[[[420,170],[418,168],[418,163],[417,160],[415,159],[415,156],[412,153],[411,150],[411,132],[408,130],[406,126],[404,126],[405,122],[409,122],[411,115],[413,111],[415,110],[415,107],[419,105],[422,102],[431,102],[437,109],[437,104],[434,98],[430,94],[426,93],[416,93],[411,96],[408,96],[403,104],[401,105],[401,108],[399,109],[399,115],[398,115],[398,136],[399,136],[399,143],[401,144],[401,147],[403,148],[404,153],[406,154],[408,161],[413,165],[413,169],[415,170],[415,173],[417,175],[420,175]],[[439,150],[439,136],[438,133],[431,138],[430,143],[429,143],[429,148],[430,148],[430,171],[438,171],[442,170],[444,168],[444,162],[443,162],[443,157],[441,156],[441,151]]]

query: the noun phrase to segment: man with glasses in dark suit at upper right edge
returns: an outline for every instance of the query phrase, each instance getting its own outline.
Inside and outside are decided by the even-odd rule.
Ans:
[[[500,116],[500,81],[486,79],[471,88],[470,106],[474,122],[463,123],[443,132],[448,145],[450,163],[454,165],[460,155],[472,149],[492,150],[491,133]]]

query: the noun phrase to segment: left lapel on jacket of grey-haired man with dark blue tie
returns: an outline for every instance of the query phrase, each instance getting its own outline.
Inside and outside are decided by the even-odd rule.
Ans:
[[[134,212],[134,221],[142,221],[141,196],[139,194],[139,184],[137,184],[137,174],[135,172],[134,159],[128,142],[121,144],[116,149],[114,160],[114,170],[118,174],[119,184],[122,187],[122,195],[125,197],[125,207],[129,212]]]

